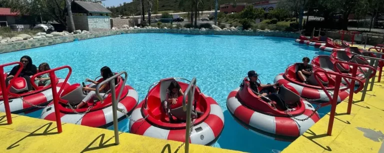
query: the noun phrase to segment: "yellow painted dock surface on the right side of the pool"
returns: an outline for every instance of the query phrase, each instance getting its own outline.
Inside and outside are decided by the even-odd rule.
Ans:
[[[360,97],[353,96],[350,115],[347,99],[337,105],[332,136],[326,135],[328,113],[282,153],[384,153],[384,83],[375,83],[363,102]]]

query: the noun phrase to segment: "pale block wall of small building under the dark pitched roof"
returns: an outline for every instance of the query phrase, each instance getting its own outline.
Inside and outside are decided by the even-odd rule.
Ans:
[[[110,30],[109,16],[87,16],[89,32]]]

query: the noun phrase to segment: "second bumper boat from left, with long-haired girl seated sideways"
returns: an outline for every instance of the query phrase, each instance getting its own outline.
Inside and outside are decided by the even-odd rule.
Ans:
[[[121,77],[118,77],[117,80],[118,82],[115,86],[115,91],[116,93],[119,93],[120,90],[122,90],[117,107],[124,110],[124,113],[117,112],[118,121],[120,121],[124,119],[126,115],[129,115],[137,105],[138,95],[132,87],[125,85],[125,81],[123,81]],[[102,78],[97,80],[97,82],[102,81]],[[94,84],[87,86],[95,87]],[[75,106],[86,96],[82,91],[82,87],[82,85],[76,83],[65,88],[60,93],[58,109],[60,111],[61,122],[95,128],[106,128],[111,126],[113,124],[111,94],[108,94],[108,96],[104,98],[103,103],[101,103],[95,96],[93,101],[89,101],[82,108],[76,109]],[[44,108],[40,118],[49,121],[56,120],[53,102],[50,103],[48,107]]]

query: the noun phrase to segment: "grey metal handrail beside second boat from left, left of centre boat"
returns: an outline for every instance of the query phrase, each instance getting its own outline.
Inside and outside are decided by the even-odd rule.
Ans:
[[[117,77],[119,77],[121,74],[125,74],[125,77],[124,77],[124,80],[121,84],[121,87],[120,87],[120,91],[118,93],[118,96],[117,96],[117,99],[116,99],[116,90],[115,90],[115,84],[114,84],[114,79],[116,79]],[[127,80],[127,77],[128,77],[128,74],[125,72],[125,71],[122,71],[120,73],[117,73],[115,75],[113,75],[112,77],[102,81],[101,83],[99,83],[97,86],[96,86],[96,96],[97,98],[102,101],[103,98],[102,96],[100,95],[99,93],[99,90],[100,90],[100,87],[102,85],[104,85],[105,83],[109,82],[109,86],[111,88],[111,98],[112,98],[112,116],[113,116],[113,128],[114,128],[114,144],[115,145],[118,145],[120,142],[119,142],[119,139],[118,139],[118,121],[117,121],[117,111],[119,112],[123,112],[123,109],[119,109],[117,108],[117,101],[120,99],[120,96],[121,96],[121,93],[122,93],[122,89],[124,88],[124,85],[125,85],[125,82]]]

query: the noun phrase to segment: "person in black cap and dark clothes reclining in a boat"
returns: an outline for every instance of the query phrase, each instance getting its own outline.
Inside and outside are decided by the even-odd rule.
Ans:
[[[277,82],[274,84],[260,84],[257,82],[257,77],[259,75],[255,71],[249,71],[248,72],[248,78],[249,78],[249,87],[252,89],[253,92],[259,94],[257,97],[263,99],[264,97],[269,98],[270,100],[276,102],[276,104],[283,110],[283,111],[294,111],[295,109],[288,109],[285,106],[285,102],[281,99],[280,95],[276,93],[276,89],[274,88],[277,85]],[[261,91],[258,91],[258,87],[262,87]],[[263,99],[265,100],[265,99]],[[270,102],[267,102],[269,105]]]

